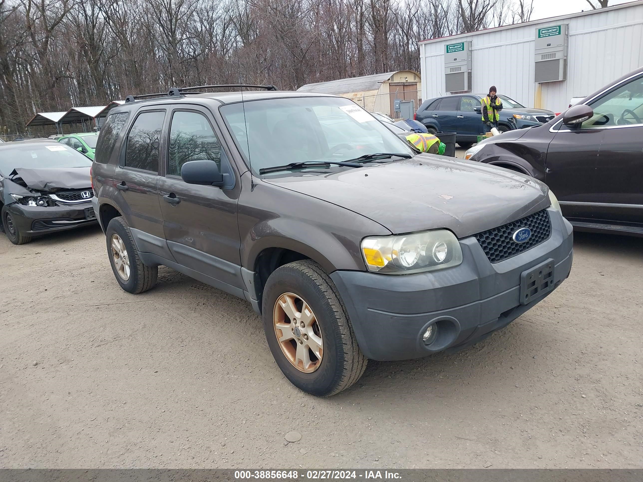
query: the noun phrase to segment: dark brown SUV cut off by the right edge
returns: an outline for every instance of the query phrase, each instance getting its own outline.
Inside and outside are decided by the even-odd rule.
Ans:
[[[467,159],[556,191],[578,231],[643,237],[643,67],[547,123],[484,139]]]

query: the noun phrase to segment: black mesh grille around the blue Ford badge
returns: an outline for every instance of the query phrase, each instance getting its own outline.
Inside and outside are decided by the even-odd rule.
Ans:
[[[529,228],[531,230],[531,237],[523,243],[517,243],[512,238],[513,234],[520,228]],[[541,244],[541,242],[548,240],[551,235],[552,222],[549,219],[549,213],[547,210],[542,210],[499,228],[479,233],[475,237],[489,261],[499,263]]]

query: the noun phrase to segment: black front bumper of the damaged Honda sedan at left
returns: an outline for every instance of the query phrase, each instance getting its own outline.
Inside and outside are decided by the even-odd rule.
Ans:
[[[55,231],[94,224],[96,217],[90,201],[73,206],[23,206],[18,202],[9,204],[7,210],[14,225],[24,236],[37,236]],[[92,217],[93,216],[93,217]]]

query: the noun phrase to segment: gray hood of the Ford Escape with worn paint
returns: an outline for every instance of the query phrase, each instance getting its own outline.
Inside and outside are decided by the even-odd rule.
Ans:
[[[324,171],[264,181],[359,213],[394,234],[447,228],[464,238],[550,205],[547,186],[532,177],[453,157],[419,154]]]

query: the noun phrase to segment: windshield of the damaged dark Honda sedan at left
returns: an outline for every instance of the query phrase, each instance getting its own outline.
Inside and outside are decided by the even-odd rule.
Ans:
[[[48,169],[91,166],[91,159],[60,143],[10,144],[0,149],[0,175],[4,177],[21,167]]]

